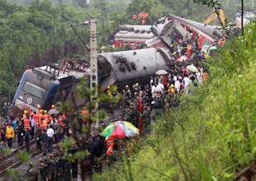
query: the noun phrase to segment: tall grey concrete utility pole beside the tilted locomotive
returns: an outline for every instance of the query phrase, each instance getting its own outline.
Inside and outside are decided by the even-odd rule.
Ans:
[[[96,33],[96,17],[91,17],[90,19],[90,63],[91,63],[91,77],[90,77],[90,87],[97,86],[97,33]],[[95,95],[92,95],[90,100],[97,99],[97,91]],[[94,110],[92,112],[97,113],[97,104],[95,104]],[[95,125],[98,128],[98,121]]]

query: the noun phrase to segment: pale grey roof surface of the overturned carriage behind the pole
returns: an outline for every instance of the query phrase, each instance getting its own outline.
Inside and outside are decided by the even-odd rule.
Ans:
[[[127,63],[135,63],[136,69],[130,71],[125,63],[118,62],[119,58],[126,58]],[[108,85],[114,82],[129,81],[140,79],[149,75],[153,75],[160,69],[170,70],[168,63],[174,61],[173,55],[168,49],[137,49],[130,51],[121,51],[113,53],[100,53],[97,55],[99,64],[102,64],[104,72],[112,72]],[[122,71],[120,64],[126,67],[126,71]],[[106,70],[108,69],[108,70]]]

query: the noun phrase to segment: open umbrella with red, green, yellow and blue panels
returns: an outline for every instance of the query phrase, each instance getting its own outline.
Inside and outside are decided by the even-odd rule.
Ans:
[[[116,138],[126,138],[135,137],[139,135],[139,129],[135,128],[134,125],[126,121],[117,121],[111,123],[102,132],[103,137],[116,137]]]

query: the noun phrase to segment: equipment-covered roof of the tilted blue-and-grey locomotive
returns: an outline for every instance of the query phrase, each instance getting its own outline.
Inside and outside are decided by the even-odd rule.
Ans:
[[[36,67],[32,70],[36,74],[42,73],[48,77],[55,77],[55,80],[63,79],[66,77],[75,77],[76,79],[89,75],[90,69],[87,64],[73,63],[73,66],[67,61],[59,63],[49,63],[43,67]]]

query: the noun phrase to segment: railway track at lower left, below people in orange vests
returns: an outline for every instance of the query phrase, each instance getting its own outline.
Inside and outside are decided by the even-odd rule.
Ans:
[[[2,156],[0,158],[0,177],[7,171],[7,169],[17,168],[21,165],[21,160],[19,159],[18,151],[26,151],[26,146],[21,146],[17,150],[12,151],[12,155]],[[30,142],[30,152],[32,158],[39,155],[42,151],[36,151],[36,140]]]

